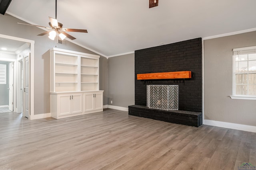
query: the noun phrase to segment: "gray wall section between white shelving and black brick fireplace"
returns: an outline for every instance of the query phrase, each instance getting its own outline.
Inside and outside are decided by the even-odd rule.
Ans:
[[[108,58],[108,105],[134,105],[134,54]]]

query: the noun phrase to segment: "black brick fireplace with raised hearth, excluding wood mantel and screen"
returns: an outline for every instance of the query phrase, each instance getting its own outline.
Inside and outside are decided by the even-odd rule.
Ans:
[[[191,78],[137,80],[137,74],[191,70]],[[147,85],[178,85],[178,110],[147,106]],[[162,121],[202,125],[202,39],[190,39],[135,51],[135,105],[129,114]]]

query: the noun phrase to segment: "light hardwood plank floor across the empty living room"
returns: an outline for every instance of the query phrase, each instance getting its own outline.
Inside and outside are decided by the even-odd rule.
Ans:
[[[256,165],[256,133],[115,109],[58,120],[0,117],[0,170],[238,170],[243,162]]]

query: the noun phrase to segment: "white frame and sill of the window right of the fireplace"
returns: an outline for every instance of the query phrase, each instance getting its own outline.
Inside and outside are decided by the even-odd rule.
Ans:
[[[232,93],[233,95],[230,96],[230,98],[232,99],[243,99],[243,100],[256,100],[256,96],[255,95],[237,95],[236,94],[236,59],[235,59],[235,55],[234,52],[235,51],[245,51],[245,50],[255,50],[256,53],[256,46],[252,46],[252,47],[243,47],[243,48],[237,48],[237,49],[233,49],[233,81],[232,81]]]

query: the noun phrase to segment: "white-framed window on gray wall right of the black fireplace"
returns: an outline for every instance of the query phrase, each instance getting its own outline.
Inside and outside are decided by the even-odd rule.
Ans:
[[[256,46],[233,49],[233,96],[256,100]]]

